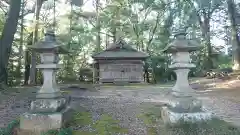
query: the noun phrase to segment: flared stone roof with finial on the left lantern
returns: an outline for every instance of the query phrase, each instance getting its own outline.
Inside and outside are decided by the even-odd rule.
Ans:
[[[69,51],[63,47],[63,45],[56,41],[56,36],[54,31],[47,30],[44,40],[39,41],[35,45],[28,46],[30,49],[36,52],[54,52],[58,54],[69,53]]]

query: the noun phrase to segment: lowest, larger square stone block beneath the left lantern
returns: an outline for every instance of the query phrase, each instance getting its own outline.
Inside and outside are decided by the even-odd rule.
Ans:
[[[67,107],[55,113],[24,113],[20,116],[20,130],[42,132],[59,129],[71,118],[72,109]]]

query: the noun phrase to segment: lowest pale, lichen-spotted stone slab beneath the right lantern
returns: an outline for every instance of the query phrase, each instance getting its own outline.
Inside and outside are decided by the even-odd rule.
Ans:
[[[168,107],[162,107],[161,110],[162,120],[165,124],[169,125],[177,125],[180,122],[198,122],[198,121],[206,121],[211,120],[213,118],[212,113],[198,111],[198,112],[185,112],[178,113],[173,112]]]

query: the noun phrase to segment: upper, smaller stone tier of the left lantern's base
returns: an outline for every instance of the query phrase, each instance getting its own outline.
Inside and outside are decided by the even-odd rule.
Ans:
[[[59,99],[37,99],[31,103],[32,113],[53,113],[60,112],[67,104],[65,98]]]

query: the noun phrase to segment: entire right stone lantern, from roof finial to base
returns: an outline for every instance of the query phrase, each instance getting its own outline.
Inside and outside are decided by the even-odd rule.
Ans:
[[[202,110],[202,104],[192,94],[194,90],[188,82],[188,73],[195,65],[191,63],[190,52],[200,49],[201,46],[193,40],[186,39],[185,31],[175,35],[174,41],[165,49],[165,53],[172,54],[172,64],[169,68],[176,73],[177,80],[172,88],[171,101],[162,108],[162,118],[167,124],[177,124],[179,121],[202,121],[212,118],[211,113]]]

